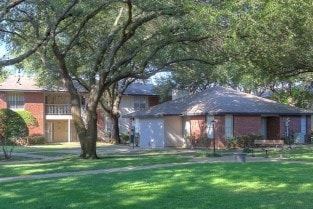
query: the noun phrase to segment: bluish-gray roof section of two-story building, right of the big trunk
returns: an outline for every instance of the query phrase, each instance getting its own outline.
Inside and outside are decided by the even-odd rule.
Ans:
[[[158,96],[158,94],[154,92],[154,88],[153,84],[132,83],[127,87],[123,94],[132,96]]]

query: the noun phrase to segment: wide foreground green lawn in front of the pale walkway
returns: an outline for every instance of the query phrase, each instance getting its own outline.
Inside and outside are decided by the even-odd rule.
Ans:
[[[0,183],[0,208],[306,209],[312,175],[303,164],[218,163]]]

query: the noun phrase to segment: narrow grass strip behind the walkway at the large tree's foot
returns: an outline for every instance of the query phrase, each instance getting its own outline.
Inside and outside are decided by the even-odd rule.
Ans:
[[[0,166],[0,177],[180,163],[186,162],[189,159],[190,158],[186,156],[180,155],[111,156],[107,158],[101,158],[99,160],[83,160],[74,157],[46,162],[3,164]]]

